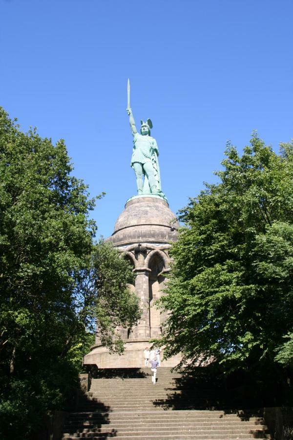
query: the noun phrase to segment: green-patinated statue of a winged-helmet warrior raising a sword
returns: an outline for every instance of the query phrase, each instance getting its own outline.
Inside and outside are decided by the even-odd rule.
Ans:
[[[158,145],[156,139],[150,136],[152,122],[141,119],[140,133],[137,132],[132,110],[130,108],[130,84],[127,84],[127,114],[133,135],[133,152],[131,167],[134,169],[137,184],[137,194],[153,194],[167,201],[161,189],[160,167],[158,161]]]

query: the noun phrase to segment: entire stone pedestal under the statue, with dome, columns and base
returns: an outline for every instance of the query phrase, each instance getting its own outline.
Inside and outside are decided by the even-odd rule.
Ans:
[[[99,368],[141,368],[143,352],[150,347],[150,338],[160,338],[166,314],[155,308],[162,295],[162,287],[169,268],[170,242],[177,240],[178,222],[167,202],[158,196],[135,196],[126,202],[124,211],[116,221],[110,241],[133,266],[136,273],[135,289],[141,301],[143,314],[131,331],[119,329],[126,343],[125,353],[109,354],[100,341],[84,357],[85,364]],[[163,351],[164,354],[164,351]],[[161,356],[163,357],[163,356]],[[162,367],[174,367],[180,356],[162,361]]]

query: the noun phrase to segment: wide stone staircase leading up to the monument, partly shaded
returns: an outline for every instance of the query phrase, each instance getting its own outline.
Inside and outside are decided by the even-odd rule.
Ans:
[[[204,369],[191,376],[158,368],[156,384],[150,369],[100,370],[79,411],[69,414],[63,439],[271,439],[257,412],[227,405]]]

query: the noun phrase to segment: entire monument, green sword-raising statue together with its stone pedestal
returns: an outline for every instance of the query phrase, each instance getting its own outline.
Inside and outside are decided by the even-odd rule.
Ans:
[[[122,355],[112,353],[101,345],[99,338],[84,357],[85,364],[99,368],[141,368],[144,366],[143,351],[149,347],[150,338],[160,338],[166,313],[154,303],[163,294],[169,271],[169,248],[177,240],[178,222],[170,211],[162,191],[158,162],[158,145],[151,137],[150,119],[141,120],[137,132],[130,107],[130,84],[127,84],[127,114],[133,135],[131,167],[136,176],[137,195],[126,201],[125,209],[118,217],[113,234],[106,239],[112,242],[133,266],[135,284],[129,288],[138,295],[142,317],[132,329],[119,328],[125,341]],[[162,366],[174,367],[180,357],[163,360]]]

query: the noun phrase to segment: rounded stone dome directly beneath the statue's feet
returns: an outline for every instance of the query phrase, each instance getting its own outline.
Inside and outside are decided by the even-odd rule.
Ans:
[[[179,224],[168,203],[158,196],[134,196],[127,200],[118,217],[114,232],[106,241],[114,246],[168,243],[177,240]]]

